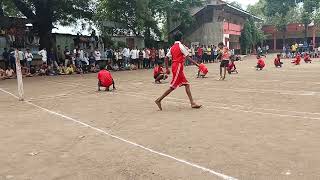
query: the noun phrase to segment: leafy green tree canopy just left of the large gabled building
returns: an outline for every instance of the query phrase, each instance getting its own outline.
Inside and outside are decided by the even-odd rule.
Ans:
[[[201,0],[99,0],[96,14],[97,24],[108,35],[133,33],[143,35],[147,45],[161,37],[159,23],[170,27],[169,18],[183,25],[191,24],[190,8],[201,4]],[[106,28],[105,20],[125,24],[123,27]],[[168,31],[163,31],[168,32]]]

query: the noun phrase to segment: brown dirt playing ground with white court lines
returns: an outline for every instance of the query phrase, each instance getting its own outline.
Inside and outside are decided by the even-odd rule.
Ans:
[[[25,102],[0,81],[0,179],[318,180],[320,60],[273,58],[259,72],[237,62],[226,81],[218,64],[206,79],[186,67],[200,110],[180,88],[159,112],[169,83],[152,70],[113,73],[115,92],[97,92],[95,74],[26,78]]]

